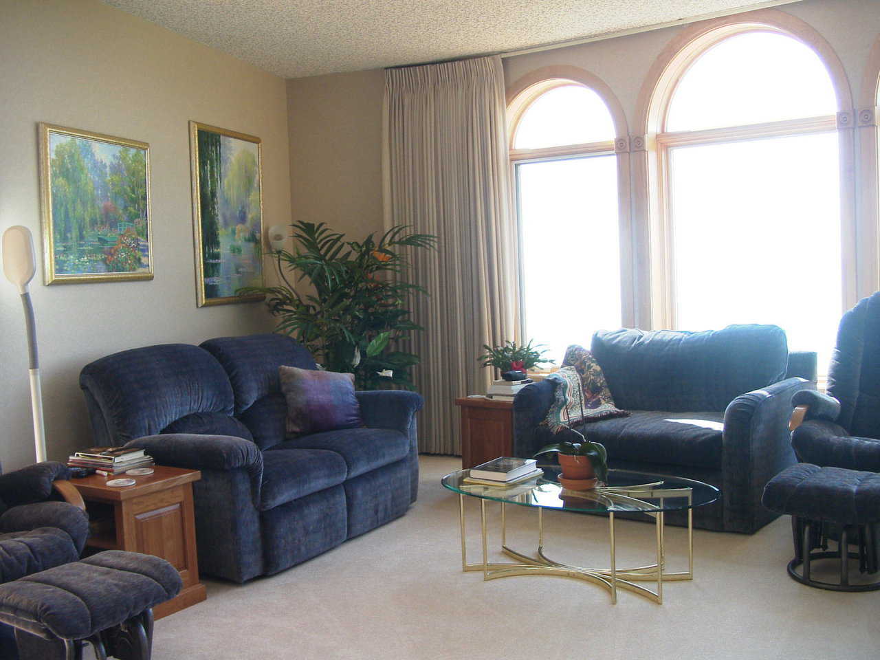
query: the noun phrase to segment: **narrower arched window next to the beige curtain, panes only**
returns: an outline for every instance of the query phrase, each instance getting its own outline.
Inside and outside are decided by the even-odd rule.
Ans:
[[[559,363],[568,344],[621,325],[615,126],[568,79],[531,85],[510,112],[524,333]]]

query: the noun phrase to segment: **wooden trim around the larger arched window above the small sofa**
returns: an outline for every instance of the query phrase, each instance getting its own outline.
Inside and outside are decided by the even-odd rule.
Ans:
[[[739,33],[773,32],[785,34],[811,48],[825,64],[837,97],[838,113],[742,127],[704,131],[664,133],[666,114],[678,81],[700,55],[722,40]],[[642,85],[636,126],[642,130],[642,152],[634,154],[633,178],[644,186],[634,190],[635,253],[642,256],[640,282],[650,282],[636,301],[640,326],[676,327],[674,306],[671,221],[669,213],[668,150],[682,143],[705,143],[708,140],[731,141],[744,136],[767,137],[803,135],[837,129],[840,141],[840,225],[843,272],[841,273],[843,308],[858,300],[858,292],[873,286],[863,274],[856,272],[858,253],[855,223],[854,181],[854,110],[849,82],[840,58],[828,42],[799,18],[782,11],[759,10],[694,24],[671,40],[657,58]],[[640,140],[636,136],[635,140]],[[876,252],[875,252],[876,254]],[[863,262],[863,261],[862,261]],[[876,262],[876,257],[873,262]],[[860,286],[861,284],[861,286]],[[875,290],[875,289],[871,289]],[[842,312],[842,310],[841,310]]]

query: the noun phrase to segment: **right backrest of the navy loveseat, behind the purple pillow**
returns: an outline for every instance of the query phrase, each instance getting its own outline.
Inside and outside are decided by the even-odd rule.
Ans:
[[[218,337],[201,346],[228,374],[235,415],[251,431],[253,442],[260,449],[282,442],[287,401],[281,391],[278,367],[317,369],[309,351],[282,334]]]

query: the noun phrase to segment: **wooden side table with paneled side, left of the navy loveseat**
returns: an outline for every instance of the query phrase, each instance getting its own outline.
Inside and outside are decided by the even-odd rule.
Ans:
[[[193,510],[193,481],[201,479],[202,473],[165,466],[154,470],[149,476],[132,477],[136,484],[123,488],[109,487],[106,481],[126,474],[92,474],[70,483],[83,495],[89,513],[87,546],[155,554],[180,571],[180,594],[153,611],[161,619],[207,598],[205,585],[199,582]]]

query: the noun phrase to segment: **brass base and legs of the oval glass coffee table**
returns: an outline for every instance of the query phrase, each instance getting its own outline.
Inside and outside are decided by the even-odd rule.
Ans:
[[[620,497],[620,495],[616,495]],[[639,502],[644,505],[645,502]],[[553,561],[544,554],[544,510],[538,507],[538,553],[531,557],[507,546],[507,503],[501,502],[501,549],[502,552],[516,562],[489,563],[488,534],[486,529],[486,500],[480,498],[480,533],[482,537],[481,563],[467,562],[465,532],[465,495],[458,495],[458,513],[461,522],[461,569],[463,571],[482,571],[484,580],[495,580],[500,577],[512,576],[562,576],[571,577],[584,582],[598,584],[611,594],[612,605],[617,603],[617,590],[632,591],[643,598],[648,598],[658,605],[663,604],[663,583],[672,580],[693,579],[693,509],[687,510],[687,570],[668,573],[664,570],[664,512],[642,510],[654,518],[656,529],[656,562],[634,568],[618,568],[614,544],[614,512],[608,512],[608,536],[610,550],[610,568],[586,568],[571,566]],[[656,590],[650,590],[640,582],[656,583]]]

